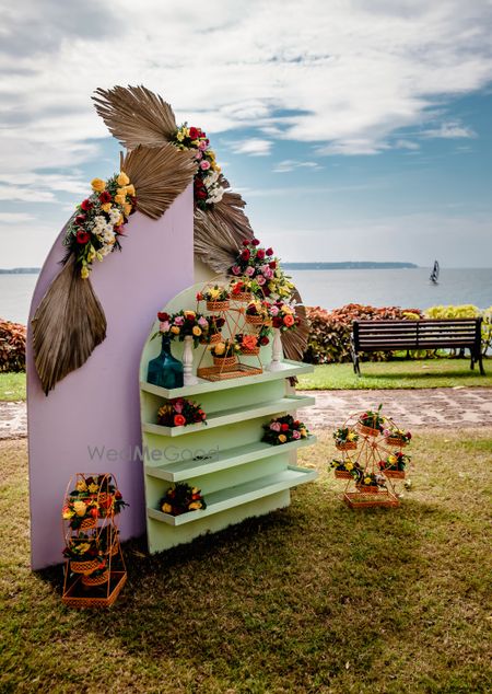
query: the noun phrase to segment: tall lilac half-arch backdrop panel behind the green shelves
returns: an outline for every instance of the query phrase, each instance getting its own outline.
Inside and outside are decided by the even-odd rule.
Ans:
[[[139,361],[155,313],[194,284],[192,215],[190,186],[161,219],[153,221],[139,212],[130,218],[121,253],[96,263],[91,274],[107,319],[106,339],[47,397],[34,367],[31,319],[60,269],[62,234],[43,266],[27,332],[33,569],[62,560],[61,504],[68,481],[77,472],[113,472],[130,504],[119,517],[121,537],[144,532],[142,463],[129,454],[141,446]],[[91,460],[89,446],[122,454],[117,460]]]

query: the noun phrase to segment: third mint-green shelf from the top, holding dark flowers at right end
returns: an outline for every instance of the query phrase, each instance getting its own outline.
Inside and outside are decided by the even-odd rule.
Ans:
[[[294,451],[306,446],[316,443],[315,436],[308,436],[306,439],[298,439],[282,446],[271,446],[261,441],[238,446],[237,448],[226,449],[218,455],[201,461],[178,461],[176,463],[167,463],[166,465],[145,465],[145,474],[157,479],[166,479],[167,482],[183,482],[192,477],[208,475],[221,470],[229,470],[236,465],[243,465],[253,461],[280,455],[282,453]]]

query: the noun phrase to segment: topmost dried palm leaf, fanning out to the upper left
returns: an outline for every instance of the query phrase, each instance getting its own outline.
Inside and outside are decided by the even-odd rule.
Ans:
[[[169,104],[144,86],[96,89],[95,94],[97,114],[128,150],[161,147],[177,128]]]

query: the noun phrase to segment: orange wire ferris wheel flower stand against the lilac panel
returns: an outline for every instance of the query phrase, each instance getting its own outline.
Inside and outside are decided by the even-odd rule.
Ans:
[[[73,502],[70,489],[80,485],[87,487],[87,479],[98,479],[98,489],[85,497],[97,514],[89,517],[77,528],[71,528],[71,519],[63,519],[62,530],[66,547],[90,544],[96,556],[67,558],[65,565],[63,594],[61,601],[71,608],[108,608],[127,582],[127,570],[119,543],[119,531],[115,512],[115,495],[118,486],[113,474],[77,473],[73,484],[67,486],[63,509]],[[82,497],[81,497],[82,499]],[[101,563],[104,568],[99,567]]]

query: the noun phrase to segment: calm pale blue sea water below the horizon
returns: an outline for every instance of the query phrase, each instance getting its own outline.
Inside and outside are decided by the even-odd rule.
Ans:
[[[492,305],[492,268],[442,269],[431,285],[429,268],[395,270],[290,270],[305,304],[337,309],[347,303],[427,309],[448,303]],[[37,275],[0,275],[0,317],[26,323]]]

